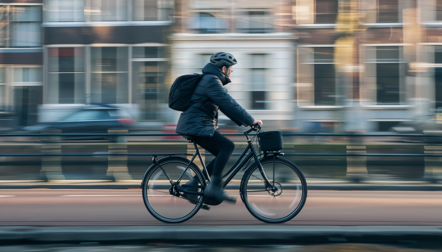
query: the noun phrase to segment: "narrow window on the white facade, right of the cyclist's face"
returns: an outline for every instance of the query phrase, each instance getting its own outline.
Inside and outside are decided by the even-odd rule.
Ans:
[[[267,109],[266,108],[266,84],[267,84],[267,68],[265,54],[251,54],[249,81],[250,81],[250,108],[251,109]]]

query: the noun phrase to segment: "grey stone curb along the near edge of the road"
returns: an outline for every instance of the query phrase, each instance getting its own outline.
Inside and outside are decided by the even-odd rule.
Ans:
[[[3,226],[0,243],[442,243],[442,226]]]

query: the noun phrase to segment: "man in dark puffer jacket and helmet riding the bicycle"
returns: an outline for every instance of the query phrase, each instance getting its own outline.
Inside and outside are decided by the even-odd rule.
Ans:
[[[204,191],[206,199],[217,202],[224,200],[235,201],[225,195],[221,186],[221,173],[232,155],[235,145],[221,133],[217,132],[218,109],[221,110],[238,126],[263,124],[262,120],[255,120],[243,109],[225,90],[224,86],[230,83],[232,66],[237,61],[230,53],[215,53],[210,57],[210,63],[202,69],[206,73],[196,85],[191,95],[191,106],[181,113],[176,133],[190,136],[195,143],[209,151],[215,158],[206,165],[211,183]],[[187,184],[198,184],[197,179]],[[192,201],[195,195],[183,195]]]

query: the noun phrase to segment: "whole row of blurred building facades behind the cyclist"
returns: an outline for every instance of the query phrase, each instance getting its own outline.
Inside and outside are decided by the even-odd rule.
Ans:
[[[168,87],[219,51],[239,62],[229,93],[275,127],[386,131],[442,107],[442,0],[1,0],[0,9],[0,113],[20,125],[36,122],[38,104],[91,102],[136,104],[141,120],[174,124]]]

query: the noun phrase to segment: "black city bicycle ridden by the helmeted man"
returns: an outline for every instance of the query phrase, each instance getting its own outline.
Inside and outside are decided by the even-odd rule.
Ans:
[[[257,134],[249,138],[248,134],[252,131]],[[295,164],[280,158],[284,155],[280,150],[263,153],[259,151],[256,154],[253,141],[262,132],[259,124],[244,132],[248,145],[222,176],[225,178],[230,174],[223,186],[225,188],[236,173],[253,158],[254,162],[244,167],[246,171],[240,181],[240,198],[248,211],[260,221],[282,223],[291,220],[301,211],[307,198],[307,183]],[[187,139],[194,143],[192,139]],[[164,154],[169,156],[159,160],[156,156],[151,158],[153,164],[147,169],[141,182],[143,201],[150,214],[162,222],[184,222],[192,218],[200,208],[208,210],[209,204],[219,204],[204,201],[204,188],[210,177],[196,143],[194,147],[196,152],[191,160],[176,156],[178,154]],[[197,156],[203,170],[193,162]],[[260,156],[262,158],[259,159]],[[186,184],[193,178],[198,179],[197,184]],[[186,194],[193,195],[194,200],[184,198],[183,195]]]

